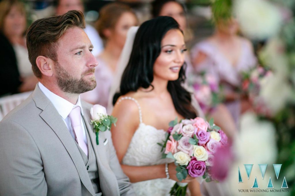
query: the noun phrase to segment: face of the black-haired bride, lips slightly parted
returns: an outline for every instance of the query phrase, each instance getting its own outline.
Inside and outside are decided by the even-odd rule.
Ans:
[[[186,45],[183,34],[178,29],[169,30],[161,42],[161,53],[156,59],[153,71],[154,78],[168,81],[178,79],[179,71],[184,63]]]

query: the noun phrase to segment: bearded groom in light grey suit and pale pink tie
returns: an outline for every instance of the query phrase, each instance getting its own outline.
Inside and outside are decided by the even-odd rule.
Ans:
[[[109,132],[96,145],[91,105],[79,98],[96,86],[98,65],[84,27],[80,11],[29,27],[39,83],[0,122],[0,195],[135,195]]]

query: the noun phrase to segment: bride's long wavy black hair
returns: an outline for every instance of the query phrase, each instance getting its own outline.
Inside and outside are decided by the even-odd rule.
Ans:
[[[135,35],[130,59],[122,75],[120,92],[114,95],[113,105],[128,92],[136,92],[140,87],[153,87],[153,67],[161,52],[161,41],[171,29],[180,30],[178,23],[169,16],[159,16],[142,23]],[[191,94],[181,85],[186,79],[185,69],[186,63],[181,67],[178,79],[168,81],[167,90],[178,114],[190,119],[196,117],[196,111],[191,105]]]

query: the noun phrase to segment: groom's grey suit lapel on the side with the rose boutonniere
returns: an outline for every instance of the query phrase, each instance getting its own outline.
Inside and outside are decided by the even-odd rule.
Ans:
[[[82,103],[83,107],[83,103]],[[87,131],[89,133],[89,137],[91,142],[91,145],[93,146],[94,153],[96,156],[96,162],[97,162],[97,167],[99,170],[99,182],[100,182],[100,187],[103,192],[103,194],[107,195],[120,195],[118,185],[117,183],[117,178],[114,175],[114,172],[109,166],[108,159],[106,157],[109,157],[110,155],[106,154],[106,147],[104,146],[104,140],[106,139],[104,137],[104,134],[101,132],[99,133],[99,145],[96,144],[96,135],[93,132],[93,127],[90,124],[90,111],[85,109],[83,107],[83,119],[86,124]]]

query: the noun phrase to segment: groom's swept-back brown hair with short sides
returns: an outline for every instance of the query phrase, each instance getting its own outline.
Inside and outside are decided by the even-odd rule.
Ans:
[[[44,56],[57,63],[57,41],[67,29],[72,27],[85,28],[85,19],[81,11],[71,10],[60,16],[36,20],[31,24],[27,31],[27,48],[36,77],[42,77],[36,64],[37,57]]]

